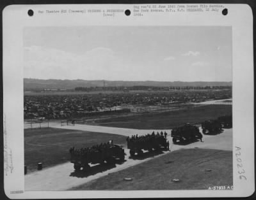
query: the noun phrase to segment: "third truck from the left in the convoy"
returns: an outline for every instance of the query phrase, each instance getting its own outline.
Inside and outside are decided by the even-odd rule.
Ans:
[[[203,138],[199,128],[189,123],[172,129],[171,136],[174,144],[176,144],[178,141],[182,143],[184,141],[193,141],[195,139],[200,139],[200,141],[202,141]]]

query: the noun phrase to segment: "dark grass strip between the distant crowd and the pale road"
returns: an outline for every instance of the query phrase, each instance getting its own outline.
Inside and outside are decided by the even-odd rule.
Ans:
[[[179,126],[187,122],[191,124],[201,123],[221,115],[232,115],[232,105],[212,104],[162,113],[99,119],[95,120],[94,124],[131,129],[171,129],[176,125]]]

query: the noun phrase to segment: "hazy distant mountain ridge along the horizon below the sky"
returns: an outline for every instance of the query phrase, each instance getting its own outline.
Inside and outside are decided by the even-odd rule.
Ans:
[[[24,89],[75,89],[76,87],[205,87],[205,86],[232,86],[232,82],[157,82],[157,81],[109,81],[109,80],[57,80],[24,78]]]

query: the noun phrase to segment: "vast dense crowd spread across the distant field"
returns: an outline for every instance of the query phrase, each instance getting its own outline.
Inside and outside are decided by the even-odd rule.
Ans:
[[[231,90],[25,95],[24,118],[67,119],[86,117],[88,113],[92,112],[127,111],[127,109],[124,109],[127,105],[168,106],[175,103],[227,99],[231,96]],[[118,108],[118,106],[122,106],[122,108]]]

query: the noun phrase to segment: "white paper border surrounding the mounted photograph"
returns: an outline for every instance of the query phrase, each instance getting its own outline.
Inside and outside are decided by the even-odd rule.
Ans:
[[[140,5],[140,4],[136,4]],[[145,5],[145,4],[144,4]],[[221,12],[147,13],[143,17],[94,15],[34,15],[28,10],[122,9],[132,4],[51,4],[11,5],[3,10],[3,126],[4,146],[12,154],[12,170],[4,171],[4,191],[12,199],[42,198],[122,198],[122,197],[245,197],[255,190],[254,117],[253,117],[253,15],[247,4],[221,4]],[[232,26],[232,101],[233,101],[233,190],[148,190],[134,191],[24,191],[23,121],[23,31],[24,27],[84,25],[190,25]],[[11,151],[11,153],[10,153]],[[243,162],[244,176],[237,168],[237,151]],[[14,191],[14,192],[13,192]],[[16,192],[15,192],[16,191]],[[21,191],[21,192],[19,192]]]

